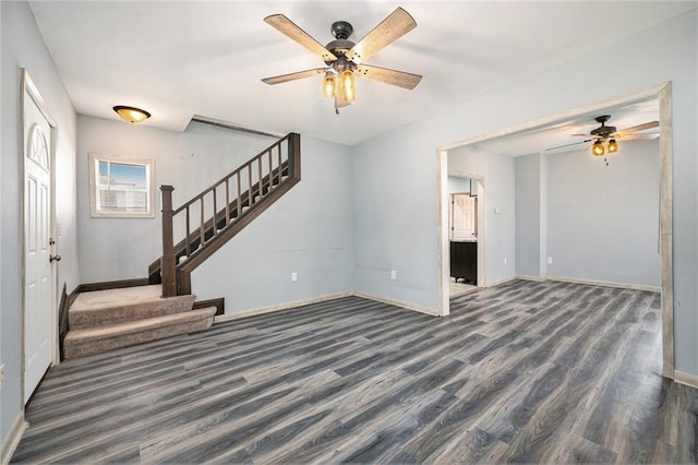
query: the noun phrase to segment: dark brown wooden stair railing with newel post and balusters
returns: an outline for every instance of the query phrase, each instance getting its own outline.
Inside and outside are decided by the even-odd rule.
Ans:
[[[148,276],[164,297],[191,294],[191,273],[300,181],[300,134],[289,133],[176,210],[174,188],[160,187],[163,257]]]

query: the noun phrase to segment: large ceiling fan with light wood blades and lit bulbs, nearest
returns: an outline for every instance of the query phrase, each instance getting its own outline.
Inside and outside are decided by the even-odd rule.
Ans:
[[[417,27],[414,19],[399,7],[357,44],[349,40],[353,27],[346,21],[336,21],[332,24],[330,32],[335,40],[326,46],[320,44],[282,14],[273,14],[265,17],[264,21],[317,55],[325,62],[325,67],[265,78],[262,82],[280,84],[298,79],[324,75],[323,94],[326,97],[335,98],[337,115],[339,108],[350,105],[356,99],[357,75],[408,90],[414,88],[422,79],[419,74],[362,63],[373,53]]]

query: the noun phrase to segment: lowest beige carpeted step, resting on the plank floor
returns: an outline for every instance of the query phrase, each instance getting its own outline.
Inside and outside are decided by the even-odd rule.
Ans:
[[[109,326],[70,330],[63,339],[64,356],[84,357],[163,337],[203,331],[213,324],[215,314],[216,307],[207,307]]]

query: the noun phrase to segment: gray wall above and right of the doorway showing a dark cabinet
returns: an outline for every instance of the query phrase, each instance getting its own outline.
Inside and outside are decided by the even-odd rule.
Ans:
[[[514,158],[461,147],[448,152],[448,171],[484,178],[484,285],[509,279],[516,264],[516,198]],[[477,176],[476,176],[477,175]],[[481,199],[478,198],[480,202]],[[498,208],[500,213],[495,213]],[[478,227],[478,247],[482,228]],[[505,263],[506,261],[506,263]]]

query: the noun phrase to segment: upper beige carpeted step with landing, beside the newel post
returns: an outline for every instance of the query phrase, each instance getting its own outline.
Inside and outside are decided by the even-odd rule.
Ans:
[[[161,286],[94,290],[77,296],[68,311],[69,327],[83,330],[191,311],[193,295],[160,297]]]

